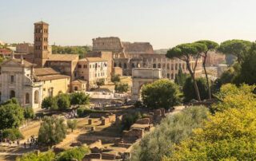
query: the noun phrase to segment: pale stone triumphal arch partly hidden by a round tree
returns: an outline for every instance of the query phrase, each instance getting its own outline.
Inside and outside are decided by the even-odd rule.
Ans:
[[[140,100],[142,85],[162,79],[162,69],[136,68],[132,70],[132,79],[131,99]]]

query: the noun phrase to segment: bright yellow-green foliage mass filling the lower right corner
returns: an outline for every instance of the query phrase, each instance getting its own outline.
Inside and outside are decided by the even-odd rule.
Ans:
[[[226,84],[218,93],[218,111],[193,135],[170,148],[165,160],[256,159],[254,86]]]

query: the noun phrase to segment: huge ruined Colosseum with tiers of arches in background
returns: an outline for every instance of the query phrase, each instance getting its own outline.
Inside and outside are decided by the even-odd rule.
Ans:
[[[149,42],[121,41],[119,37],[98,37],[93,39],[93,53],[111,52],[113,54],[113,67],[121,68],[122,75],[131,76],[134,68],[162,69],[162,76],[175,79],[178,69],[188,73],[186,63],[179,59],[169,59],[165,53],[154,53]],[[194,68],[195,60],[190,65]],[[202,59],[198,60],[195,77],[202,75]]]

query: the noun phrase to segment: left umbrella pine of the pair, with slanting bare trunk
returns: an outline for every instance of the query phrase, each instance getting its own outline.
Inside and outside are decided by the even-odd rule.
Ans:
[[[194,90],[197,94],[198,101],[201,101],[200,93],[198,90],[198,84],[195,81],[195,70],[198,65],[198,58],[201,57],[200,53],[206,52],[207,46],[202,43],[187,43],[182,45],[177,45],[172,49],[169,49],[166,53],[166,57],[178,58],[186,62],[186,69],[190,73],[190,77],[194,82]],[[190,61],[194,60],[194,67],[190,65]]]

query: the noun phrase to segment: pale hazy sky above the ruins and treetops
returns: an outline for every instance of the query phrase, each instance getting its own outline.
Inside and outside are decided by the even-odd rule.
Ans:
[[[256,0],[0,0],[0,40],[33,42],[34,22],[50,44],[91,45],[94,37],[149,41],[154,49],[210,39],[256,39]]]

